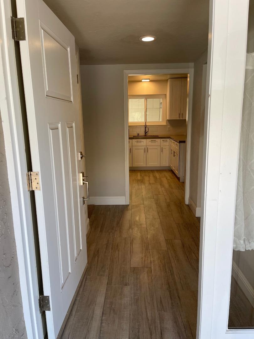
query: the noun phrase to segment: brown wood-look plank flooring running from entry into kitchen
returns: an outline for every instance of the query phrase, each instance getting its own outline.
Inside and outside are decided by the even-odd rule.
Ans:
[[[88,205],[88,216],[88,268],[62,339],[194,339],[200,224],[183,183],[130,171],[130,205]]]

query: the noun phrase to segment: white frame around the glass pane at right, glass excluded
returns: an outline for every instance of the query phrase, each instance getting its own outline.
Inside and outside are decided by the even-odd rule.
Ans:
[[[210,0],[196,338],[228,329],[249,0]],[[233,122],[233,123],[232,123]]]

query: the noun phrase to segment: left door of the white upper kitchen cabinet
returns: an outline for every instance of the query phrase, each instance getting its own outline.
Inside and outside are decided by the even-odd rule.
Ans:
[[[170,79],[169,119],[180,119],[182,79]]]

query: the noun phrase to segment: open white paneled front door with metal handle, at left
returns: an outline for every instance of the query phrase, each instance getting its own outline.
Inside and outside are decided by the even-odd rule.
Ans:
[[[58,336],[84,268],[86,218],[75,40],[41,0],[17,0],[25,17],[20,42],[48,338]]]

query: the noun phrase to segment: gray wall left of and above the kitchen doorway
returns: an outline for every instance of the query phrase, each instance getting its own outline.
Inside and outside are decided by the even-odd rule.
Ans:
[[[189,67],[193,64],[80,66],[91,197],[125,196],[124,69]]]

